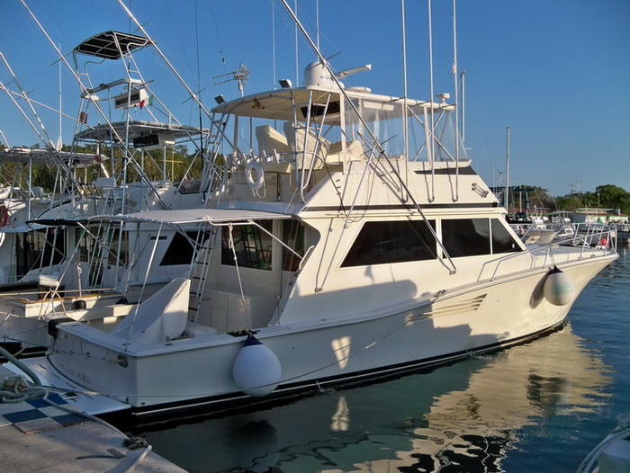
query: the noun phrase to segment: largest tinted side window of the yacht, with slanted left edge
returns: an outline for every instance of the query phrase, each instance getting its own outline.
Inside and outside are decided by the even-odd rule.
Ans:
[[[435,220],[429,220],[436,227]],[[436,258],[436,239],[423,220],[366,222],[341,264],[405,263]]]

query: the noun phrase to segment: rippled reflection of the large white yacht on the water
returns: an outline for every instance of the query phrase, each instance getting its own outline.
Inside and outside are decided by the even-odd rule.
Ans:
[[[565,326],[429,373],[146,436],[191,471],[503,471],[519,429],[598,409],[606,371]]]

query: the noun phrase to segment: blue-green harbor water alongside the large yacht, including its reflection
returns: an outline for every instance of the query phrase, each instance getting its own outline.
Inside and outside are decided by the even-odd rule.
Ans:
[[[195,472],[575,471],[630,411],[630,250],[620,256],[535,342],[145,435]]]

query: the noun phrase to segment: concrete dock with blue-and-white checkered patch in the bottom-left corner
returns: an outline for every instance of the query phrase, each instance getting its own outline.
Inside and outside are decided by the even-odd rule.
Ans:
[[[0,379],[14,373],[0,367]],[[123,433],[61,408],[63,397],[49,394],[49,402],[31,398],[0,403],[0,465],[13,472],[164,472],[180,469],[147,444],[129,444]],[[55,406],[56,404],[61,407]],[[137,448],[133,448],[137,447]]]

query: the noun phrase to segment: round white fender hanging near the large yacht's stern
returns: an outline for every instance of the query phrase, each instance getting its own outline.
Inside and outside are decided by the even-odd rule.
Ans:
[[[283,369],[280,360],[254,335],[248,335],[238,351],[232,376],[238,388],[253,397],[270,394],[280,383]]]

